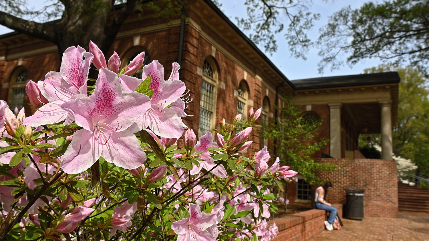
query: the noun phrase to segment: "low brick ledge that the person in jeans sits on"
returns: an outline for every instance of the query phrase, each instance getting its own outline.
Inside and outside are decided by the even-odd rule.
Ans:
[[[338,216],[342,217],[342,204],[334,204]],[[326,211],[311,209],[269,221],[278,227],[278,235],[273,241],[306,241],[325,229]]]

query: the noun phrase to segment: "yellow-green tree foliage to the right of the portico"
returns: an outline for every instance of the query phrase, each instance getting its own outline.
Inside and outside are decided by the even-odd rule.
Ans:
[[[398,71],[398,122],[393,127],[393,153],[411,159],[429,177],[429,89],[428,79],[416,67],[382,64],[365,73]],[[372,138],[372,140],[378,140]]]

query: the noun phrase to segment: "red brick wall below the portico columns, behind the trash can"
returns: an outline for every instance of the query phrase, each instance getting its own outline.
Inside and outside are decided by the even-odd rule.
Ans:
[[[322,163],[336,164],[335,172],[323,172],[320,176],[331,180],[328,202],[346,203],[345,188],[364,189],[365,217],[397,217],[398,181],[396,162],[381,159],[323,158]]]

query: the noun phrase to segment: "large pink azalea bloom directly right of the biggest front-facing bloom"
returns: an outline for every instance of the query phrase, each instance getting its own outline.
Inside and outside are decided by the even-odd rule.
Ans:
[[[154,90],[151,108],[137,120],[137,127],[133,126],[133,132],[149,127],[160,137],[179,138],[187,128],[181,119],[184,117],[184,102],[182,101],[183,104],[178,102],[186,89],[185,84],[181,80],[164,80],[164,67],[157,60],[143,67],[142,79],[149,75],[151,76],[149,89]],[[122,85],[130,90],[135,90],[141,82],[133,81],[121,79]],[[174,106],[170,106],[171,104]]]

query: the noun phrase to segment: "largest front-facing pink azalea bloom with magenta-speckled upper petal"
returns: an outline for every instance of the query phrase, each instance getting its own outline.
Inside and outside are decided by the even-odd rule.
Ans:
[[[79,174],[91,167],[100,156],[118,167],[136,169],[146,154],[136,136],[127,130],[150,106],[147,95],[122,93],[118,76],[100,69],[94,93],[66,102],[63,108],[75,116],[83,129],[73,134],[60,167],[65,173]]]

